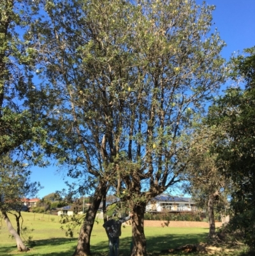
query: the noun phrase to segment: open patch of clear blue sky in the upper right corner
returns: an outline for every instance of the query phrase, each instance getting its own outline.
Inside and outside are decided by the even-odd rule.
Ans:
[[[216,6],[212,28],[217,27],[227,44],[222,50],[224,58],[255,45],[255,0],[207,0],[206,3]]]

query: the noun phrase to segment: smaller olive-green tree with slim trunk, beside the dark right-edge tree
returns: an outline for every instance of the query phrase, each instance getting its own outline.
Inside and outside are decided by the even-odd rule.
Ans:
[[[212,240],[216,237],[215,209],[222,215],[228,208],[228,196],[230,195],[230,179],[221,174],[216,164],[217,154],[214,152],[215,134],[221,133],[221,128],[208,128],[201,124],[198,133],[200,142],[190,151],[190,161],[187,165],[184,191],[190,193],[196,201],[196,206],[207,208],[209,234]]]

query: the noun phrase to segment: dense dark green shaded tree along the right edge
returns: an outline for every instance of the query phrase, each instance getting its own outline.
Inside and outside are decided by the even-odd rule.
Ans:
[[[208,121],[224,133],[217,141],[221,174],[233,181],[231,230],[244,232],[245,243],[254,250],[255,220],[255,47],[231,59],[231,78],[238,82],[210,107]],[[244,85],[244,89],[241,87]]]

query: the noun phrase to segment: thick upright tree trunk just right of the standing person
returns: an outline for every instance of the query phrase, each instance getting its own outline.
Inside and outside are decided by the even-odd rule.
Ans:
[[[146,204],[142,203],[133,210],[133,250],[131,256],[143,256],[146,254],[146,239],[143,226],[145,206]]]

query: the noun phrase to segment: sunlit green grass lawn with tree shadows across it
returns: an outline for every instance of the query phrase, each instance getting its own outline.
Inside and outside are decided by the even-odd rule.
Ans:
[[[48,216],[39,213],[22,213],[24,223],[23,227],[34,229],[30,234],[33,236],[35,245],[25,255],[27,256],[71,256],[77,245],[79,229],[76,230],[74,238],[65,236],[65,232],[60,229],[58,222],[60,217]],[[15,221],[9,215],[13,227]],[[94,224],[91,237],[91,252],[93,255],[108,255],[108,239],[103,229],[103,220],[97,220]],[[149,255],[163,255],[161,250],[175,248],[189,243],[200,243],[205,241],[208,229],[203,228],[170,228],[170,227],[145,227],[145,236],[147,239],[147,252]],[[128,256],[131,244],[131,227],[122,228],[120,237],[120,256]],[[17,251],[15,240],[11,239],[2,220],[0,229],[0,255],[22,255]],[[166,254],[164,254],[166,255]],[[182,255],[182,254],[169,254]],[[192,254],[189,254],[192,255]],[[217,254],[219,255],[219,254]],[[226,255],[226,254],[224,254]],[[234,255],[238,255],[235,253]]]

